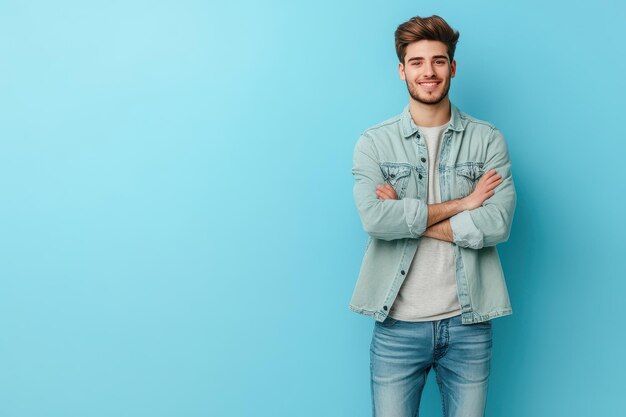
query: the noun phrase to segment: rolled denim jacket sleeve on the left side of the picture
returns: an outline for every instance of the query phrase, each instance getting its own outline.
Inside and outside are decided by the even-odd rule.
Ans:
[[[418,238],[426,230],[428,206],[416,198],[379,200],[376,186],[385,183],[372,138],[363,134],[354,149],[354,200],[365,231],[373,238]]]

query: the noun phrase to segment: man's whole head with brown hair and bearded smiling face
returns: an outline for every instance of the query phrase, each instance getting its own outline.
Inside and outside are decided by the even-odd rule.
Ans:
[[[423,104],[439,104],[447,98],[456,73],[459,32],[439,16],[416,16],[398,26],[395,38],[398,71],[411,97]]]

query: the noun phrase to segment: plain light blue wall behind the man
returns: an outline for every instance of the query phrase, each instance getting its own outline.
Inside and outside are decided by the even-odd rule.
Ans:
[[[618,416],[623,4],[3,1],[0,416],[369,415],[352,150],[433,13],[518,190],[487,416]]]

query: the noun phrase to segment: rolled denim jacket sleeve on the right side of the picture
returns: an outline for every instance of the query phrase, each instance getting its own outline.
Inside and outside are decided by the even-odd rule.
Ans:
[[[485,172],[495,169],[502,175],[502,183],[481,207],[450,218],[454,242],[464,248],[495,246],[506,242],[511,232],[516,203],[515,186],[506,142],[495,128],[490,135],[484,168]]]

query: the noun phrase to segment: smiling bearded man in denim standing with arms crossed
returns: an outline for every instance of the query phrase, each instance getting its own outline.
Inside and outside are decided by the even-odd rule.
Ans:
[[[483,416],[490,320],[512,313],[495,248],[515,210],[511,164],[500,131],[450,103],[458,38],[439,16],[398,26],[409,105],[355,147],[354,198],[370,238],[350,308],[376,320],[376,417],[418,415],[431,367],[444,416]]]

